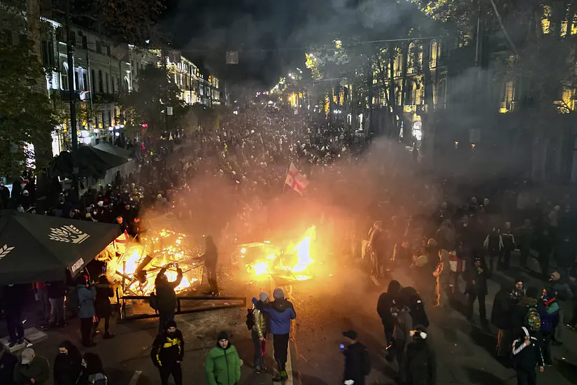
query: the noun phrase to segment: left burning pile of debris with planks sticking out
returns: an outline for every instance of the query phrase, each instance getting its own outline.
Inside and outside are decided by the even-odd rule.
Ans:
[[[176,292],[190,288],[202,279],[204,262],[199,258],[200,249],[187,245],[186,235],[171,230],[160,230],[148,234],[141,243],[130,243],[124,255],[108,262],[109,275],[117,276],[124,282],[124,293],[148,295],[155,288],[155,279],[162,267],[178,264],[183,269],[183,280]],[[166,270],[169,281],[176,279],[176,267]]]

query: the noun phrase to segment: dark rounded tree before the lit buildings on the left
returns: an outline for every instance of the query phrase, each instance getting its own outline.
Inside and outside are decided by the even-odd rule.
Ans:
[[[127,109],[136,127],[141,124],[148,125],[149,135],[159,135],[180,128],[180,118],[184,113],[178,85],[171,83],[170,76],[164,69],[152,64],[145,66],[139,73],[138,90],[122,95],[120,104]],[[166,106],[172,107],[172,116],[165,113]]]

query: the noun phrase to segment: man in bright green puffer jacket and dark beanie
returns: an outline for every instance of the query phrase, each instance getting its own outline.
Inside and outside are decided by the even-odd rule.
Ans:
[[[218,333],[216,346],[206,356],[208,385],[234,385],[241,379],[241,359],[227,332]]]

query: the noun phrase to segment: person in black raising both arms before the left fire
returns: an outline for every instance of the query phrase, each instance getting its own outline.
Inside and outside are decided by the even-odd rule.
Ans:
[[[169,282],[166,276],[166,270],[169,267],[176,267],[176,280]],[[176,300],[175,289],[183,280],[183,270],[178,267],[178,264],[171,263],[160,269],[155,279],[155,290],[157,300],[157,310],[159,316],[158,334],[162,334],[166,329],[166,322],[174,320],[174,311],[178,306]]]

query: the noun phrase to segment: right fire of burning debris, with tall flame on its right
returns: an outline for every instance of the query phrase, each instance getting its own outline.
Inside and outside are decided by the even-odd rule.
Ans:
[[[290,243],[285,248],[273,246],[269,241],[241,246],[240,256],[248,261],[246,271],[257,280],[267,276],[285,281],[311,279],[309,265],[314,262],[311,242],[315,239],[315,230],[315,226],[311,226],[297,244]]]

